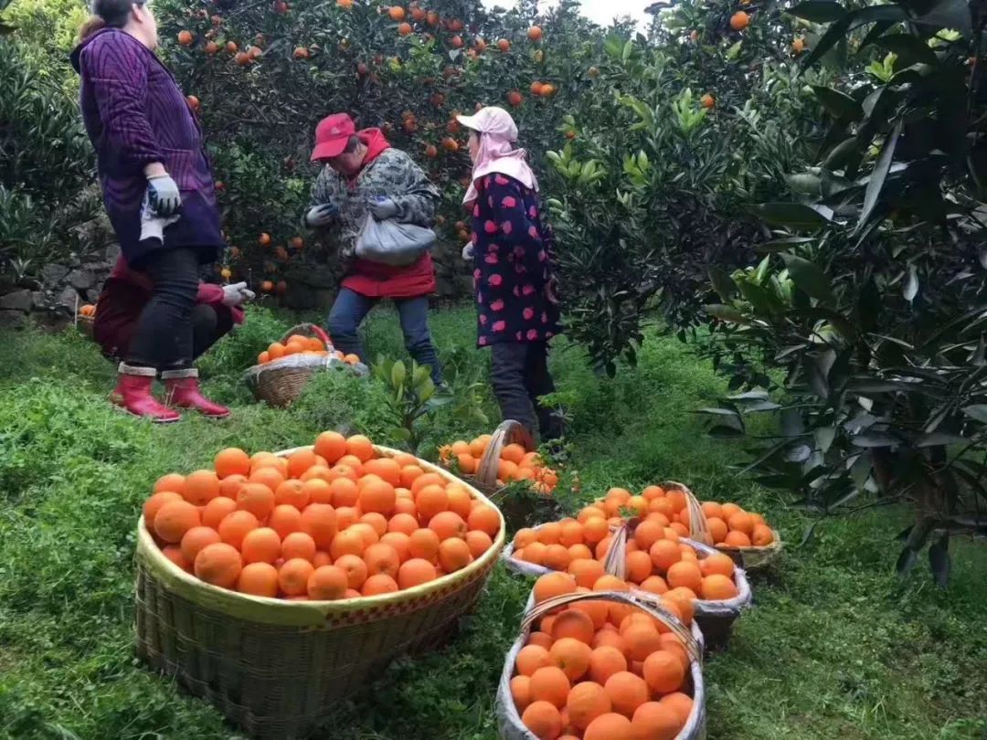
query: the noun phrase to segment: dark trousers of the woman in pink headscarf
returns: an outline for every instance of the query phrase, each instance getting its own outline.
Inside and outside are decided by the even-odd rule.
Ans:
[[[504,341],[491,345],[491,385],[500,415],[524,424],[542,442],[562,436],[562,418],[538,399],[555,393],[549,373],[549,346],[545,341]]]

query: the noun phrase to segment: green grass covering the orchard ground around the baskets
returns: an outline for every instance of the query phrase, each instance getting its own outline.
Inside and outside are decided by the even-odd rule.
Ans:
[[[469,310],[433,330],[456,385],[483,380]],[[0,737],[236,736],[207,703],[146,670],[133,651],[134,524],[152,481],[208,465],[229,445],[280,449],[324,428],[387,442],[373,383],[327,374],[290,410],[251,403],[240,370],[284,325],[255,313],[203,361],[207,388],[234,406],[222,423],[155,428],[105,402],[114,368],[73,333],[0,336]],[[371,356],[403,354],[393,315],[368,327]],[[651,338],[640,366],[613,381],[576,349],[554,356],[572,416],[573,462],[588,499],[612,484],[687,481],[702,498],[764,511],[790,543],[754,577],[755,607],[706,663],[709,737],[983,738],[987,733],[987,553],[954,540],[952,580],[893,573],[908,512],[877,508],[821,524],[776,493],[738,480],[734,444],[702,435],[692,413],[723,390],[674,339]],[[492,418],[489,392],[482,404]],[[429,444],[483,431],[451,412]],[[340,707],[333,740],[495,737],[493,695],[529,584],[497,568],[479,608],[442,650],[399,660]]]

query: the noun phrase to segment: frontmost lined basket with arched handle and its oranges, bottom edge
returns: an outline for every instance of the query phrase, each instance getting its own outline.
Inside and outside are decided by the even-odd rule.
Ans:
[[[534,597],[497,689],[503,740],[706,737],[695,625],[645,593]]]

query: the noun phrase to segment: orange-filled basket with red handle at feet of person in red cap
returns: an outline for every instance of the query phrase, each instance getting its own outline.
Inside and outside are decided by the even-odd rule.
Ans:
[[[302,395],[315,373],[333,367],[350,367],[361,374],[367,371],[355,355],[343,356],[336,351],[329,334],[320,327],[299,324],[261,352],[244,380],[258,401],[287,407]]]

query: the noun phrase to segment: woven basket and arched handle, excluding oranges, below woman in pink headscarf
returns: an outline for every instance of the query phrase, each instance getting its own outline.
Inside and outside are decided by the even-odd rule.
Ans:
[[[510,444],[521,445],[525,452],[534,452],[536,449],[535,439],[524,424],[505,419],[493,430],[491,442],[480,458],[476,474],[462,475],[460,478],[490,496],[503,514],[507,531],[514,532],[551,518],[553,514],[559,513],[559,505],[552,496],[541,495],[533,490],[529,494],[519,495],[508,486],[497,483],[500,453]]]

